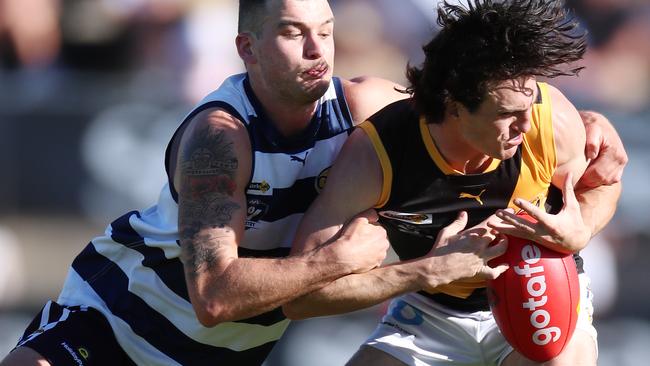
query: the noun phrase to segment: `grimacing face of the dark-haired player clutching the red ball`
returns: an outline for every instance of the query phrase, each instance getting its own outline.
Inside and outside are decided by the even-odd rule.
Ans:
[[[535,78],[496,83],[478,110],[459,108],[460,131],[477,151],[492,158],[511,158],[530,130],[532,106],[537,97]]]

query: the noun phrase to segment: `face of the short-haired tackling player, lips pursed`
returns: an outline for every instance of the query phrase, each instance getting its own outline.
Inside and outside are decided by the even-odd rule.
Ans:
[[[299,103],[319,99],[334,61],[334,16],[327,0],[269,0],[254,48],[261,78]]]

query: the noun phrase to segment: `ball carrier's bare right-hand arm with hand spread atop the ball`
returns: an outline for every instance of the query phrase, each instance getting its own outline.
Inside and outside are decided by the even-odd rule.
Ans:
[[[588,163],[584,156],[585,129],[573,104],[553,87],[550,87],[550,94],[558,160],[553,184],[562,188],[564,206],[557,215],[550,215],[525,200],[515,200],[515,204],[539,223],[530,224],[511,212],[499,211],[497,215],[505,222],[492,227],[505,234],[537,241],[560,252],[574,253],[583,249],[612,218],[621,184],[582,187],[574,191],[574,185]]]

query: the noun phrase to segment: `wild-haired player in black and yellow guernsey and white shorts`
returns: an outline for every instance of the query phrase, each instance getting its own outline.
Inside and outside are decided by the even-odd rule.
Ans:
[[[299,228],[306,245],[294,248],[313,249],[375,208],[400,262],[284,308],[324,315],[394,298],[350,365],[534,365],[505,341],[480,290],[505,268],[480,264],[505,250],[496,233],[576,253],[613,215],[620,184],[574,192],[585,129],[573,104],[538,80],[577,74],[564,67],[582,58],[585,38],[561,1],[444,3],[438,22],[423,65],[408,69],[411,97],[350,136]],[[544,209],[553,186],[564,197],[557,214]],[[576,331],[550,365],[596,363],[586,274],[580,282]]]

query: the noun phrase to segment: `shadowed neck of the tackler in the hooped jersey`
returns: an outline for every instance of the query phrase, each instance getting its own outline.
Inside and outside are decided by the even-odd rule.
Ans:
[[[264,112],[271,123],[285,137],[291,137],[302,132],[311,121],[318,101],[299,103],[283,97],[263,82],[249,78],[255,96],[262,104]]]

